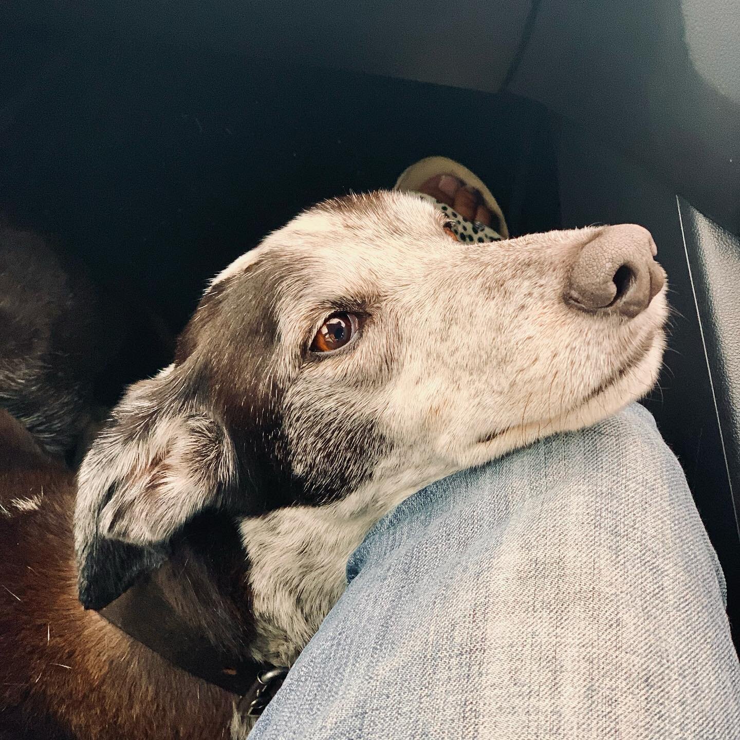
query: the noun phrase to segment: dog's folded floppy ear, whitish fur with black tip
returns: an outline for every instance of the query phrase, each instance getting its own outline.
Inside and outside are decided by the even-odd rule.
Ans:
[[[226,428],[169,368],[131,386],[82,462],[75,506],[80,600],[100,609],[161,565],[172,536],[236,485]]]

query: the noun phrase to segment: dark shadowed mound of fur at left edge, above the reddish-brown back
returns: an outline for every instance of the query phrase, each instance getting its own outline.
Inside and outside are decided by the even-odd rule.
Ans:
[[[42,289],[40,289],[42,286]],[[87,423],[95,300],[84,271],[0,218],[0,408],[53,454]]]

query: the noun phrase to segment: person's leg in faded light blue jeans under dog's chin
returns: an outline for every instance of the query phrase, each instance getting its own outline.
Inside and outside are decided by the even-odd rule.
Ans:
[[[641,406],[369,533],[250,740],[740,736],[724,579]]]

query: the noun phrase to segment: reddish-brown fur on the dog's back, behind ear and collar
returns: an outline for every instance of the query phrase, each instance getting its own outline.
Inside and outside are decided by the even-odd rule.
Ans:
[[[36,511],[10,501],[43,492]],[[0,411],[0,733],[34,740],[228,736],[232,696],[77,598],[73,475]]]

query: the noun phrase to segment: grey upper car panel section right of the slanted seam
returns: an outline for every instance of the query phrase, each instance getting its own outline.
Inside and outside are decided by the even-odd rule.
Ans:
[[[542,0],[511,90],[740,233],[740,3]]]

